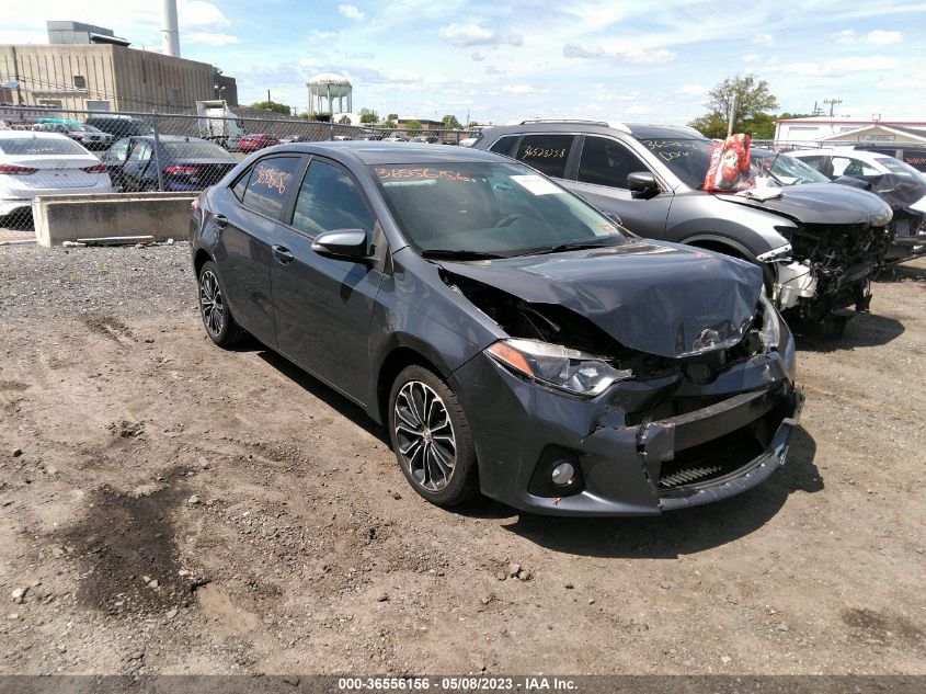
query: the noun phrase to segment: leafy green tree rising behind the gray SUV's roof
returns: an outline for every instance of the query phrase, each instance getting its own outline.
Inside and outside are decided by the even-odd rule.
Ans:
[[[765,133],[768,112],[778,107],[778,99],[769,90],[768,82],[756,80],[753,75],[728,77],[710,90],[708,96],[710,101],[705,105],[709,112],[688,124],[705,137],[725,136],[731,111],[734,133],[752,134],[751,125],[761,127]],[[774,123],[771,129],[774,134]]]

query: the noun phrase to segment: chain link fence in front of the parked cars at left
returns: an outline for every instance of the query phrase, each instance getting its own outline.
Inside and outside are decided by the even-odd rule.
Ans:
[[[471,130],[267,117],[0,109],[0,229],[32,228],[37,195],[197,192],[265,147],[323,140],[459,145]]]

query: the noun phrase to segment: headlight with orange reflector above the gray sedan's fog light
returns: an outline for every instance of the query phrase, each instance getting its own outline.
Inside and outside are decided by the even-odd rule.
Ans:
[[[601,356],[537,340],[500,340],[485,353],[517,374],[575,395],[599,395],[613,383],[633,377]]]

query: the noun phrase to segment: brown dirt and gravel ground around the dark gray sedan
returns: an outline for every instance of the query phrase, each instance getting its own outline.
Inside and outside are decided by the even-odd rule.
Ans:
[[[208,341],[185,249],[138,253],[0,249],[0,673],[926,674],[926,260],[801,340],[764,486],[574,520],[428,505],[357,408]]]

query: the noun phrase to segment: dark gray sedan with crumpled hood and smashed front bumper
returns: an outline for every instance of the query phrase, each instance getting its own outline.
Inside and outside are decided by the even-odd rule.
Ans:
[[[528,167],[293,144],[194,208],[213,341],[250,332],[359,403],[428,501],[656,514],[785,462],[802,395],[762,271],[637,238]]]

